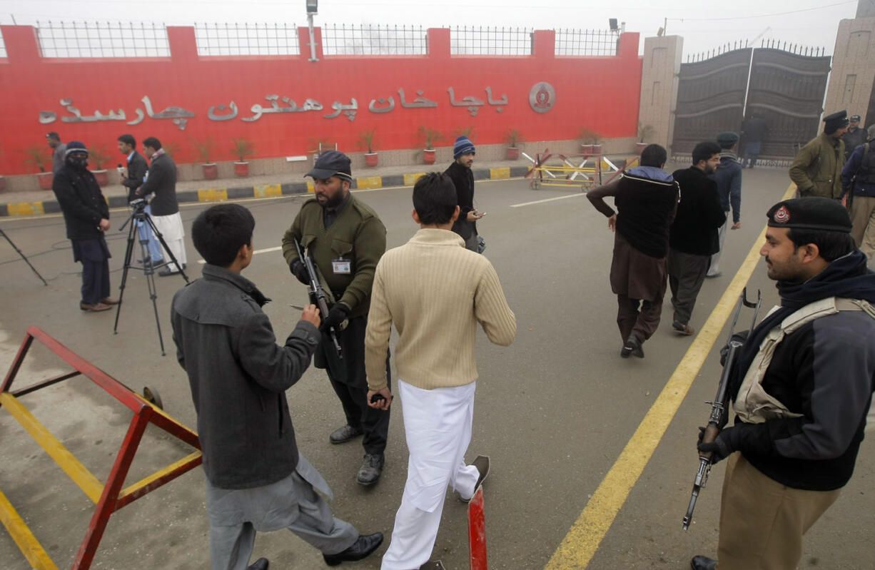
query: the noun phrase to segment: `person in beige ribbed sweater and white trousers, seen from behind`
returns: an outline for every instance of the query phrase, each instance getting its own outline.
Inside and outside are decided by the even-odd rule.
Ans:
[[[492,264],[466,250],[465,241],[451,231],[459,212],[451,179],[437,172],[421,177],[413,188],[413,206],[421,229],[377,265],[365,336],[369,405],[388,410],[386,355],[395,323],[398,393],[409,448],[407,483],[382,570],[411,570],[427,562],[447,486],[470,500],[486,477],[488,457],[479,455],[465,465],[477,380],[477,323],[494,344],[507,346],[516,334],[516,318]]]

